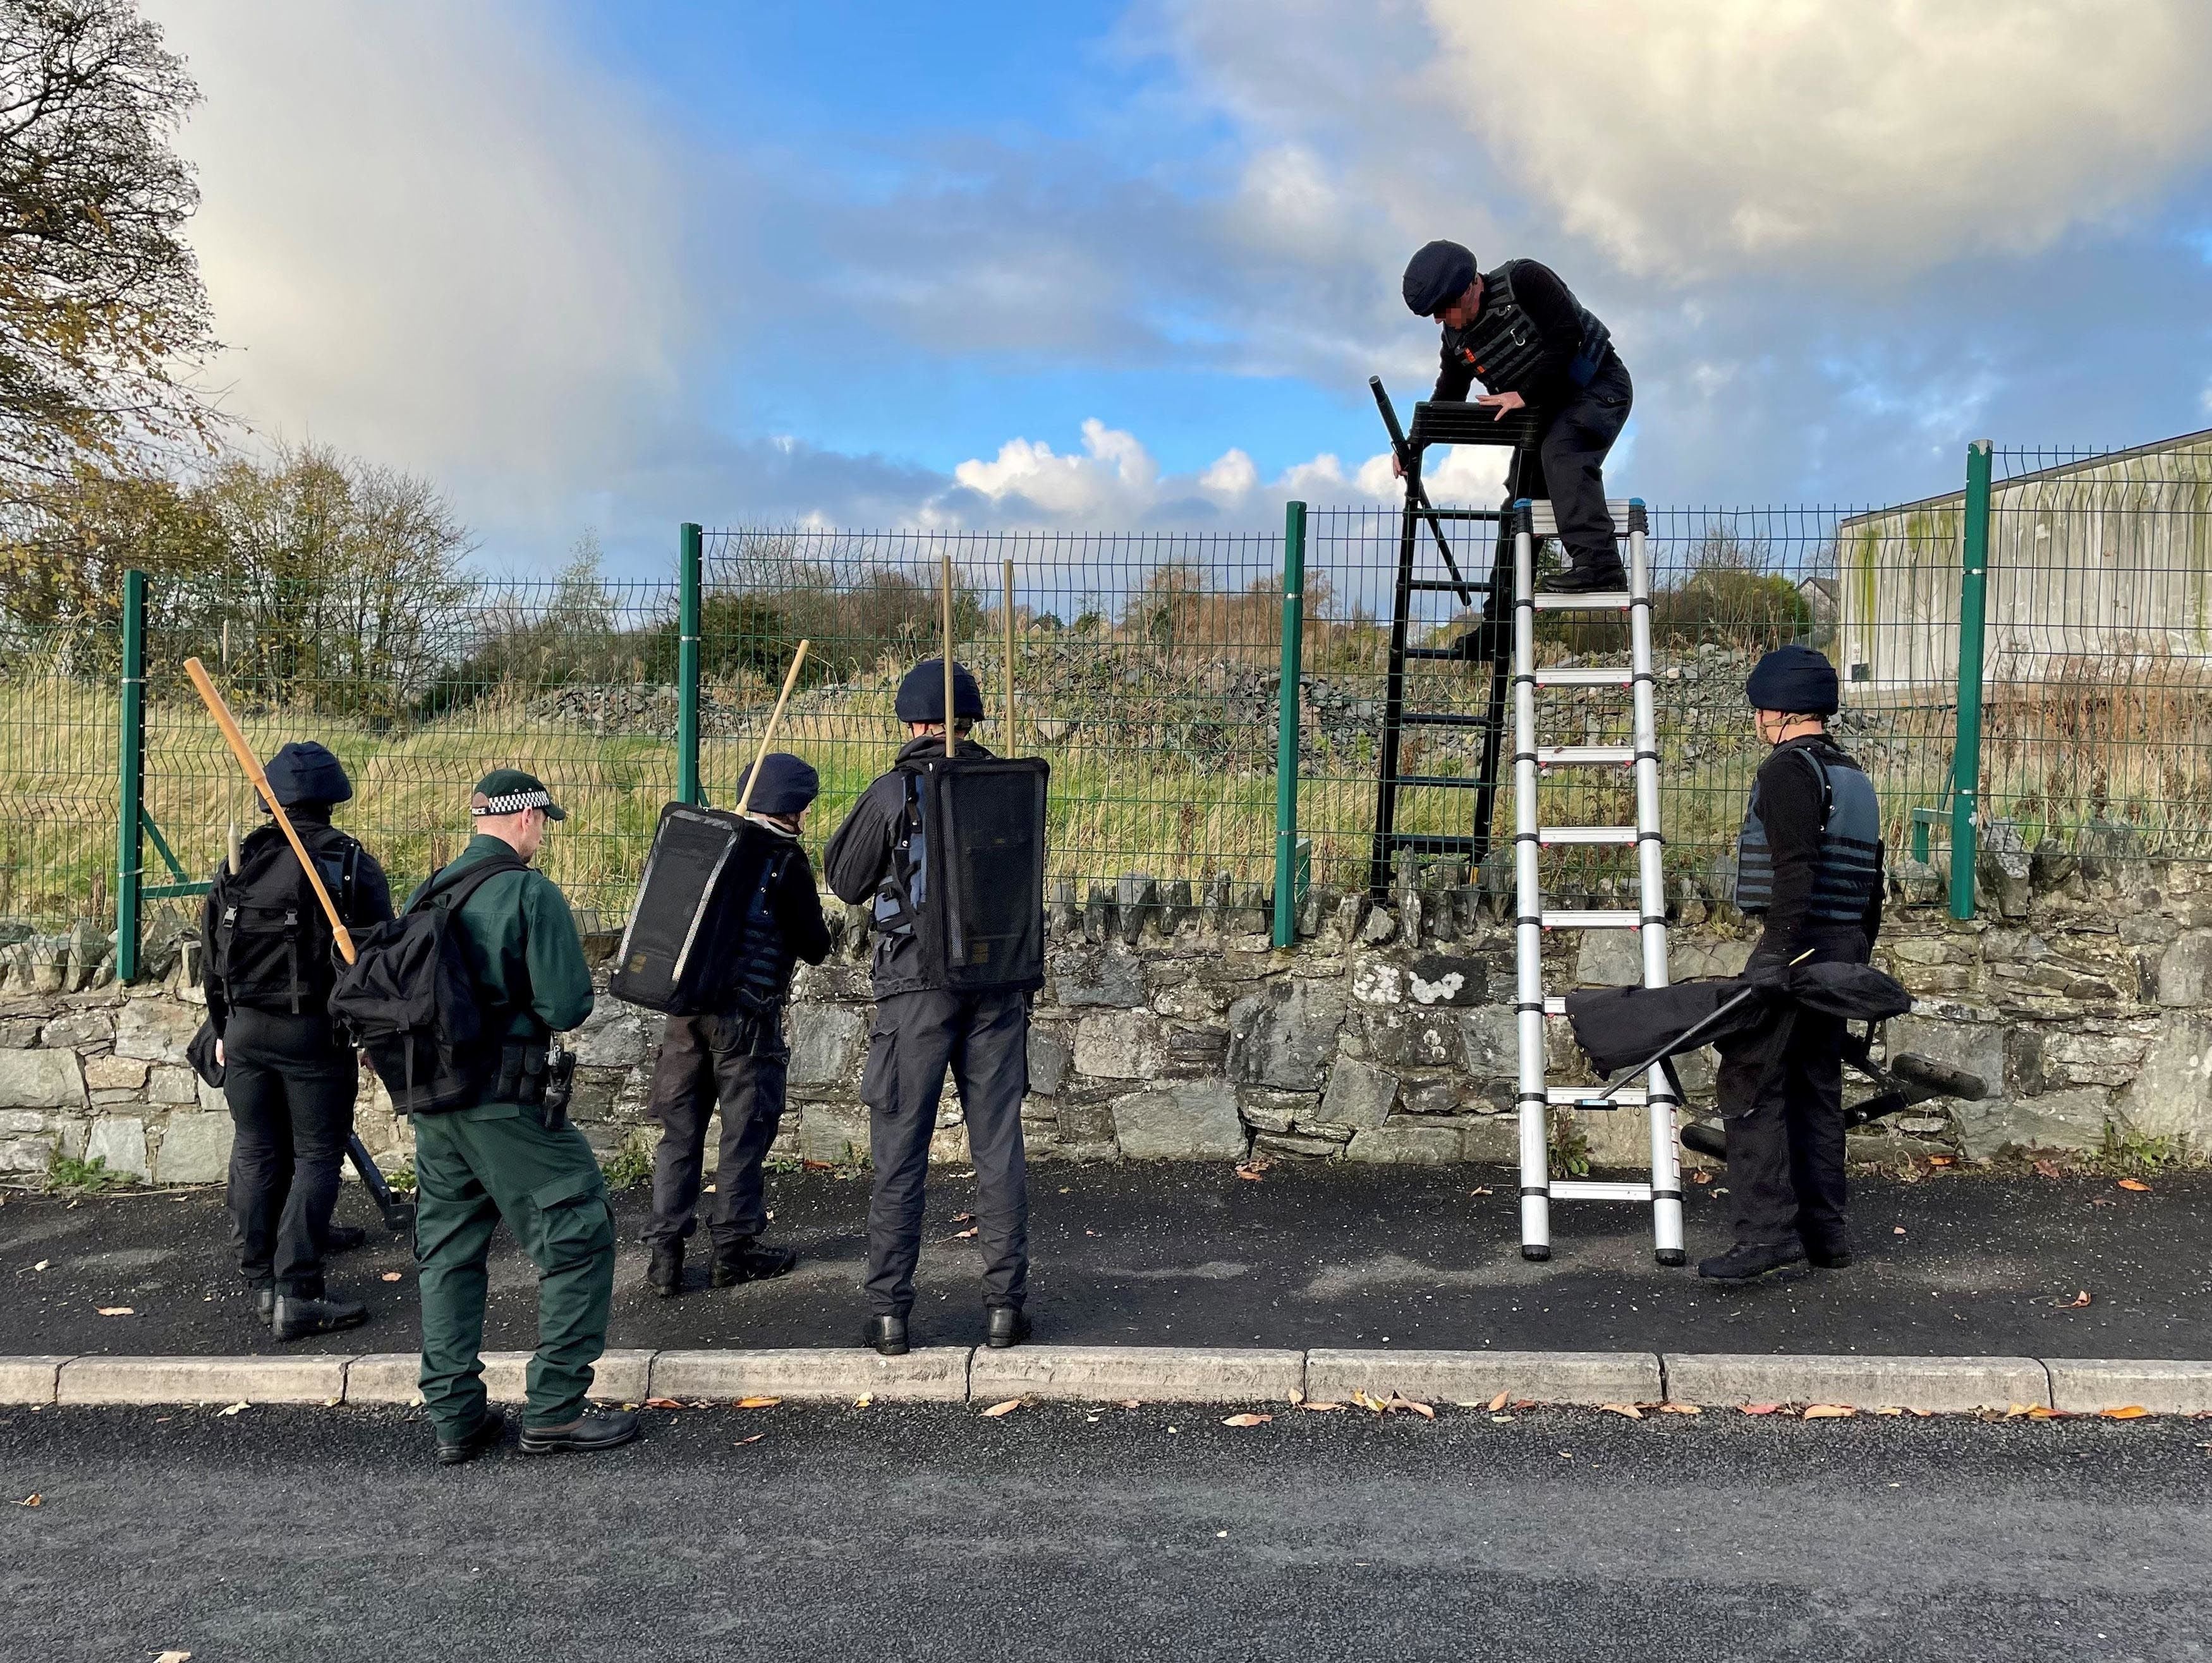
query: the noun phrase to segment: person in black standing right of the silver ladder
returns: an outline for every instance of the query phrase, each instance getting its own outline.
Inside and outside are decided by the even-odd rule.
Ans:
[[[1827,736],[1836,668],[1807,646],[1767,652],[1747,694],[1774,747],[1736,843],[1736,907],[1763,922],[1743,975],[1865,964],[1882,929],[1882,812],[1874,783]],[[1719,1108],[1736,1245],[1697,1274],[1750,1283],[1812,1261],[1851,1263],[1843,1174],[1843,1017],[1778,1006],[1721,1046]]]

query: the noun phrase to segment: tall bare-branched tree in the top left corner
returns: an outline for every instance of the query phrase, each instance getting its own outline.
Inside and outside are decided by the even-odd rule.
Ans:
[[[0,502],[215,420],[170,148],[197,102],[133,0],[0,0]]]

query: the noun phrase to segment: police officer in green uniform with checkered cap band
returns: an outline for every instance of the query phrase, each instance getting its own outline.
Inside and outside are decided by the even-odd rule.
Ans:
[[[453,913],[484,1033],[498,1037],[495,1050],[487,1044],[484,1099],[414,1121],[422,1404],[447,1466],[482,1455],[507,1431],[482,1378],[484,1258],[502,1219],[538,1265],[522,1453],[613,1448],[637,1435],[637,1415],[584,1400],[591,1364],[606,1351],[615,1214],[591,1143],[564,1108],[546,1106],[551,1037],[591,1015],[593,997],[568,902],[529,865],[546,823],[564,814],[520,767],[487,774],[469,814],[469,847],[416,891],[487,860],[511,867],[469,889]],[[436,893],[429,904],[440,904]]]

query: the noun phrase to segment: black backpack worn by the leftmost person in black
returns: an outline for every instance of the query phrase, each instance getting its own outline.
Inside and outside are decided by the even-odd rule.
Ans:
[[[307,858],[338,913],[354,916],[361,845],[327,825],[299,827]],[[338,980],[336,938],[283,832],[265,825],[208,891],[215,918],[215,980],[232,1008],[319,1011]]]

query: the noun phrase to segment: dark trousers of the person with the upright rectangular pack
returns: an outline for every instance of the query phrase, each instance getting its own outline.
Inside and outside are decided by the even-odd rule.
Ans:
[[[1029,1294],[1029,1157],[1022,1097],[1029,1092],[1026,993],[891,993],[876,1000],[867,1039],[869,1159],[867,1305],[905,1316],[922,1252],[929,1137],[951,1066],[975,1161],[975,1241],[987,1305],[1020,1309]]]

